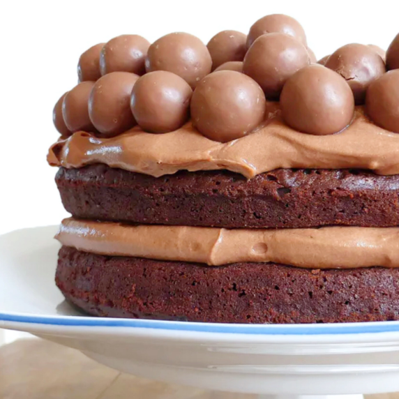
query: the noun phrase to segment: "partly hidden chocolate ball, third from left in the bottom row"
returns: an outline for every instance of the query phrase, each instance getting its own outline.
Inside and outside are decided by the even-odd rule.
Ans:
[[[133,128],[136,121],[130,111],[130,93],[138,75],[112,72],[101,77],[89,98],[89,116],[103,137],[112,137]]]

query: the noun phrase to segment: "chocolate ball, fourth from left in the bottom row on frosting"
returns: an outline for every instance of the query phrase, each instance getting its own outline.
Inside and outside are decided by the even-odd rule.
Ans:
[[[188,120],[193,90],[180,76],[157,70],[140,77],[130,107],[137,123],[151,133],[172,132]]]

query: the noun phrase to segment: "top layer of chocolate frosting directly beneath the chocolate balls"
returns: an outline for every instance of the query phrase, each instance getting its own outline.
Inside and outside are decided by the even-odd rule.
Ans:
[[[230,170],[248,179],[282,168],[359,168],[399,174],[399,135],[371,123],[357,107],[351,125],[336,135],[308,135],[289,128],[277,103],[268,103],[268,120],[254,133],[220,143],[199,134],[189,121],[163,135],[138,126],[112,138],[78,132],[52,145],[50,165],[67,168],[104,163],[151,176],[179,170]]]

